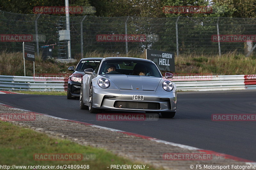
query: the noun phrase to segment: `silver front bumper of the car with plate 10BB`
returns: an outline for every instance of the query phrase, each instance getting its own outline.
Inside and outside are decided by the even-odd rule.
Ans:
[[[144,100],[132,100],[133,95],[143,95]],[[118,104],[117,102],[119,104],[124,103],[125,105],[116,105]],[[149,92],[93,88],[93,108],[111,110],[114,109],[132,111],[175,112],[176,105],[177,92]]]

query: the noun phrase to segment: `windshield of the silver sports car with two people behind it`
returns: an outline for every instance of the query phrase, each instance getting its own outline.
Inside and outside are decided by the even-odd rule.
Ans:
[[[104,61],[100,67],[99,74],[125,74],[162,77],[154,63],[136,60]]]

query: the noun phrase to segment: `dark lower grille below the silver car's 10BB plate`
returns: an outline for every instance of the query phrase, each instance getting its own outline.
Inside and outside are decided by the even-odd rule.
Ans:
[[[160,109],[160,103],[145,102],[145,101],[116,101],[116,108],[131,108],[131,109]]]

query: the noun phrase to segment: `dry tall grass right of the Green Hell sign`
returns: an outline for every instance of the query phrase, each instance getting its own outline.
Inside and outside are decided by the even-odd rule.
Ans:
[[[175,58],[178,73],[213,75],[256,74],[256,57],[236,52],[221,55],[181,55]]]

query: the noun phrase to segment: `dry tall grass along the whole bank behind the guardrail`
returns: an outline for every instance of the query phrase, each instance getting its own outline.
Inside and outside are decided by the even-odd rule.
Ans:
[[[132,53],[129,56],[145,58],[144,53]],[[85,57],[110,57],[126,56],[116,53],[93,52],[84,55]],[[77,58],[79,61],[79,58]],[[71,73],[67,71],[68,66],[75,66],[77,63],[54,63],[51,60],[43,61],[40,56],[36,56],[36,73]],[[163,72],[165,72],[163,70]],[[175,73],[199,73],[212,75],[237,75],[256,74],[256,57],[245,57],[236,52],[218,55],[189,54],[175,57]],[[23,76],[23,57],[21,52],[0,53],[0,75]],[[26,75],[33,76],[33,62],[26,61]]]

